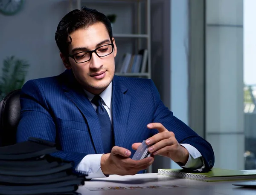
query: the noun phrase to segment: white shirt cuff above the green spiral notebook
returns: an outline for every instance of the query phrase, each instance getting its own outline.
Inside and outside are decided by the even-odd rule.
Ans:
[[[202,161],[202,155],[198,151],[198,149],[196,149],[194,146],[191,146],[188,143],[180,143],[180,145],[186,148],[189,152],[188,161],[184,166],[181,166],[181,167],[189,168],[189,169],[199,169],[199,168],[203,169],[204,163]]]

